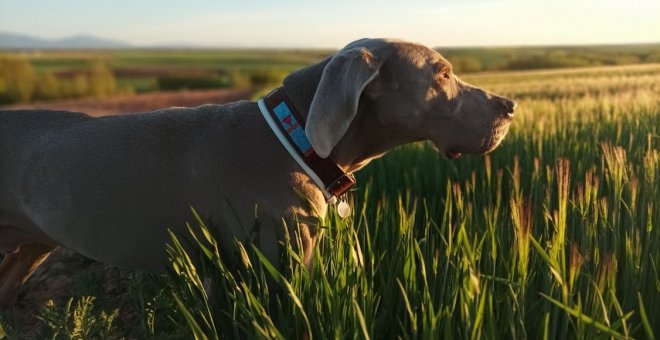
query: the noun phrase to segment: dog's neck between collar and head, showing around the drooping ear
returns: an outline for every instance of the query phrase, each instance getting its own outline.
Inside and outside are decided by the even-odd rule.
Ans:
[[[327,58],[284,79],[282,87],[304,120],[329,61]],[[330,154],[344,172],[355,172],[396,146],[421,140],[405,128],[383,124],[372,104],[365,96],[360,99],[356,118]]]

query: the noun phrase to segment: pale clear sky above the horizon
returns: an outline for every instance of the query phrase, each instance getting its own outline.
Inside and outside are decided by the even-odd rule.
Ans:
[[[0,31],[150,46],[340,48],[660,42],[660,0],[0,0]]]

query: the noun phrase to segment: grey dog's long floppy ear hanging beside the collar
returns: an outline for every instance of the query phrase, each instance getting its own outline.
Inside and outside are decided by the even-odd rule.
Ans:
[[[357,114],[362,90],[376,78],[382,63],[367,48],[347,47],[323,69],[305,126],[320,157],[328,157],[348,130]]]

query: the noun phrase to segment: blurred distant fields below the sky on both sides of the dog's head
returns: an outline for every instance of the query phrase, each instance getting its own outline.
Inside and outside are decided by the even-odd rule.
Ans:
[[[660,62],[660,44],[439,48],[459,74]],[[219,87],[256,91],[331,50],[0,51],[0,104]]]

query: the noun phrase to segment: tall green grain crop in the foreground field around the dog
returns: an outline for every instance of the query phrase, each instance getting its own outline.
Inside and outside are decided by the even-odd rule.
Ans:
[[[660,336],[660,64],[464,80],[518,100],[501,147],[449,161],[420,143],[374,161],[353,215],[324,221],[310,271],[290,246],[280,273],[244,244],[239,275],[211,238],[190,256],[173,241],[167,276],[120,272],[108,293],[93,288],[107,276],[72,274],[85,289],[45,303],[31,334]],[[19,337],[18,319],[0,315],[0,339]]]

